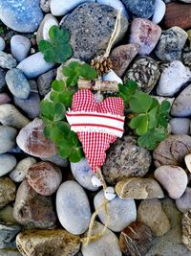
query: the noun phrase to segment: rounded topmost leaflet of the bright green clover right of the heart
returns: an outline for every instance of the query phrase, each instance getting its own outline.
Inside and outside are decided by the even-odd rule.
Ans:
[[[129,105],[135,113],[144,113],[149,110],[153,103],[153,99],[147,93],[137,91],[130,99]]]

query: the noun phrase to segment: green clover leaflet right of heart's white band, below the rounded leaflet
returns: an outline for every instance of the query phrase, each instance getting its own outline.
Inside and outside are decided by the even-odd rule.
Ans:
[[[142,135],[148,130],[148,115],[147,114],[139,114],[134,117],[130,122],[130,128],[136,129],[136,133],[138,135]]]

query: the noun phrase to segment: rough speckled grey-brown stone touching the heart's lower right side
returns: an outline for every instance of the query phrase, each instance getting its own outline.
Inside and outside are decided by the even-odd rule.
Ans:
[[[123,177],[146,175],[151,161],[150,151],[138,147],[135,137],[123,136],[110,147],[103,175],[109,184],[114,185]]]

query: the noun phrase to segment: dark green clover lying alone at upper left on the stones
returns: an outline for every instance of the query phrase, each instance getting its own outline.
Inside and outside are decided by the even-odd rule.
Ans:
[[[41,40],[38,44],[39,51],[48,62],[63,63],[73,55],[73,49],[69,44],[70,35],[65,29],[53,26],[50,31],[50,41]]]

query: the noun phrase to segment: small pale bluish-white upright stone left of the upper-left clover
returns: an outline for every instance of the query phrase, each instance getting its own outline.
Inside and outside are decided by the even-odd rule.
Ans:
[[[13,35],[11,37],[11,55],[16,58],[18,62],[27,58],[32,43],[29,38],[24,35]]]

